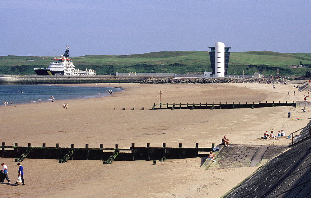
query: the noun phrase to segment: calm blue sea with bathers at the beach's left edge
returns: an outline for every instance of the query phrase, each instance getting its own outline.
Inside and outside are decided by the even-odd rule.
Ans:
[[[119,88],[95,86],[0,85],[0,104],[3,105],[4,101],[7,101],[9,105],[11,101],[13,105],[37,103],[39,98],[41,102],[45,102],[50,101],[51,96],[56,100],[97,98],[109,96],[108,90],[112,90],[112,93],[123,91]]]

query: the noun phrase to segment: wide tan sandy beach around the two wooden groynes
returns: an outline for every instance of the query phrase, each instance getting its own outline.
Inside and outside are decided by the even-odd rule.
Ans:
[[[68,85],[68,84],[66,84]],[[64,86],[66,86],[64,85]],[[70,84],[72,85],[72,84]],[[95,86],[76,84],[75,86]],[[97,84],[109,87],[109,84]],[[129,148],[135,146],[211,147],[224,135],[232,144],[277,145],[291,140],[262,140],[264,131],[290,134],[310,120],[301,108],[150,110],[159,103],[262,103],[303,100],[308,92],[293,85],[228,84],[110,84],[125,91],[107,97],[1,106],[1,141],[7,146]],[[294,90],[296,95],[293,95]],[[290,91],[290,96],[287,96]],[[63,102],[68,110],[63,110]],[[125,110],[123,110],[125,108]],[[134,108],[135,110],[132,110]],[[144,108],[144,110],[142,110]],[[291,112],[291,118],[287,113]],[[292,119],[300,118],[298,121]],[[4,197],[220,197],[258,167],[200,169],[202,158],[151,161],[25,159],[25,186],[0,184]],[[12,183],[18,167],[1,158]],[[6,182],[6,181],[5,181]]]

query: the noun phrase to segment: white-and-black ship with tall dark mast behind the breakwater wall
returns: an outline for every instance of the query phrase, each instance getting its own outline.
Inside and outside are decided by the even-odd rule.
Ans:
[[[69,46],[66,45],[65,54],[60,57],[54,57],[48,68],[35,68],[39,76],[96,76],[96,71],[92,69],[80,70],[73,65],[69,57]]]

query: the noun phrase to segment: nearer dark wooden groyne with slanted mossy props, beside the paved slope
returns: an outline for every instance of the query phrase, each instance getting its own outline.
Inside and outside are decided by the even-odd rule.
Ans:
[[[150,143],[148,143],[146,147],[135,147],[135,144],[132,143],[128,149],[121,149],[117,144],[115,148],[103,148],[102,144],[100,144],[100,148],[89,148],[88,144],[85,145],[85,148],[74,148],[74,144],[67,148],[60,147],[59,144],[56,144],[56,147],[46,147],[45,143],[42,144],[42,147],[31,147],[31,143],[28,143],[28,146],[18,146],[18,143],[15,143],[14,146],[5,146],[5,142],[2,142],[1,157],[15,158],[16,162],[29,158],[57,159],[59,163],[65,163],[67,160],[101,160],[103,164],[109,164],[114,160],[165,161],[166,159],[206,156],[207,154],[199,154],[199,152],[212,151],[214,146],[215,144],[212,144],[211,148],[199,148],[199,144],[196,143],[194,148],[188,148],[179,143],[179,147],[166,147],[166,144],[163,143],[162,147],[150,147]]]

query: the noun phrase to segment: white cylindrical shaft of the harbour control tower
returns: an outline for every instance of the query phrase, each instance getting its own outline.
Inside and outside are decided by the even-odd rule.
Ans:
[[[225,44],[215,43],[215,77],[225,77]]]

